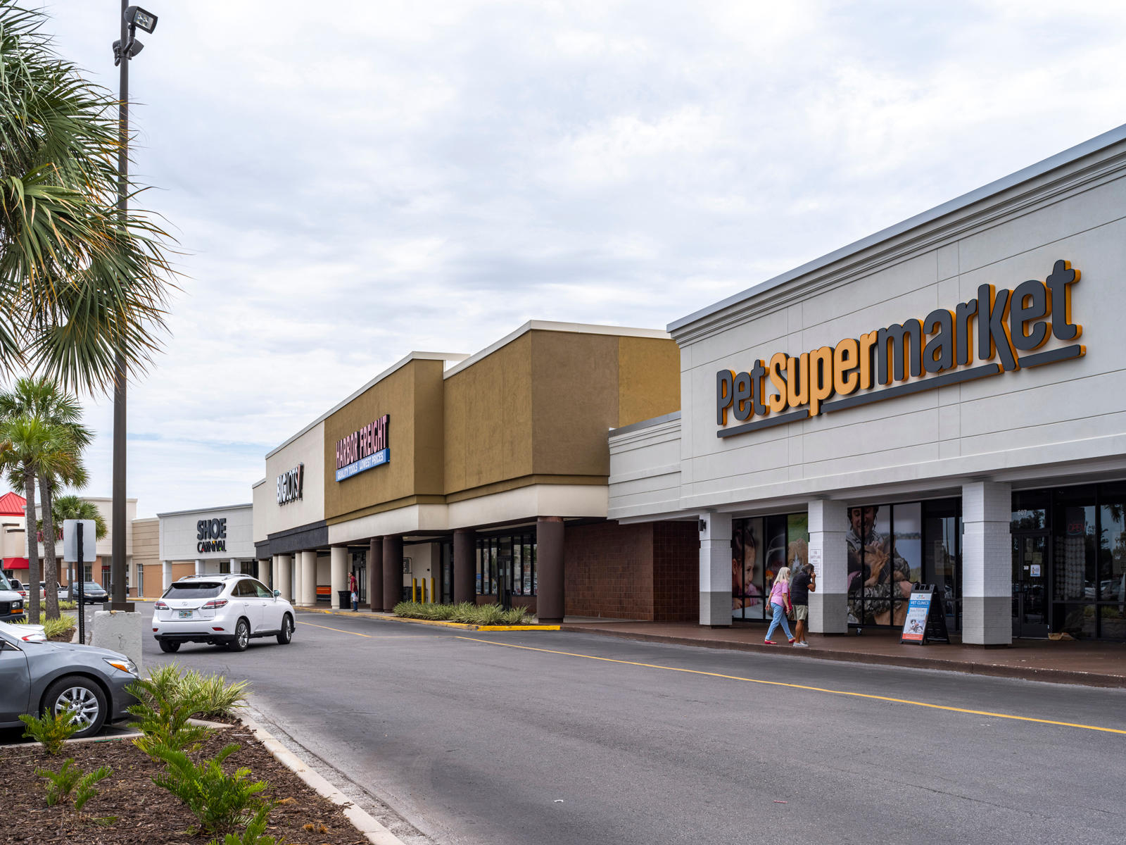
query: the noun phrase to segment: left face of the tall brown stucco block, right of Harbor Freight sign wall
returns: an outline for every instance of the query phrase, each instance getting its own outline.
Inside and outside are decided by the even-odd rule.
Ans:
[[[531,335],[446,380],[446,492],[531,472]]]

